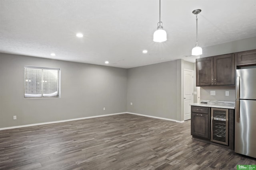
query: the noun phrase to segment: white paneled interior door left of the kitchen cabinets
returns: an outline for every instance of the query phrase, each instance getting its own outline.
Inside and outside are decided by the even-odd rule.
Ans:
[[[194,71],[184,69],[184,120],[191,119],[190,104],[194,103]]]

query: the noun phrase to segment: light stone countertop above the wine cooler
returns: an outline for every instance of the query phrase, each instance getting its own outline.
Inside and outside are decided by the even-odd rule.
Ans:
[[[202,103],[207,102],[207,103]],[[218,101],[218,100],[200,100],[200,103],[190,104],[190,106],[215,107],[224,109],[235,109],[235,102]]]

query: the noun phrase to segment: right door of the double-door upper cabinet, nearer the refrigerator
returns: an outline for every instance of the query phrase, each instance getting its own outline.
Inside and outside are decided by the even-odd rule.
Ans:
[[[234,53],[214,57],[214,85],[235,85]]]

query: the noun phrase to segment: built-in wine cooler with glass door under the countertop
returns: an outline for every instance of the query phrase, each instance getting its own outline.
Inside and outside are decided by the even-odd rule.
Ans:
[[[228,109],[211,109],[211,141],[228,145]]]

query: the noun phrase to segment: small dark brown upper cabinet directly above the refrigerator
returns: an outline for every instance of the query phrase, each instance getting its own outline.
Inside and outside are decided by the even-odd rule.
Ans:
[[[245,66],[256,64],[256,49],[236,53],[236,65]]]

